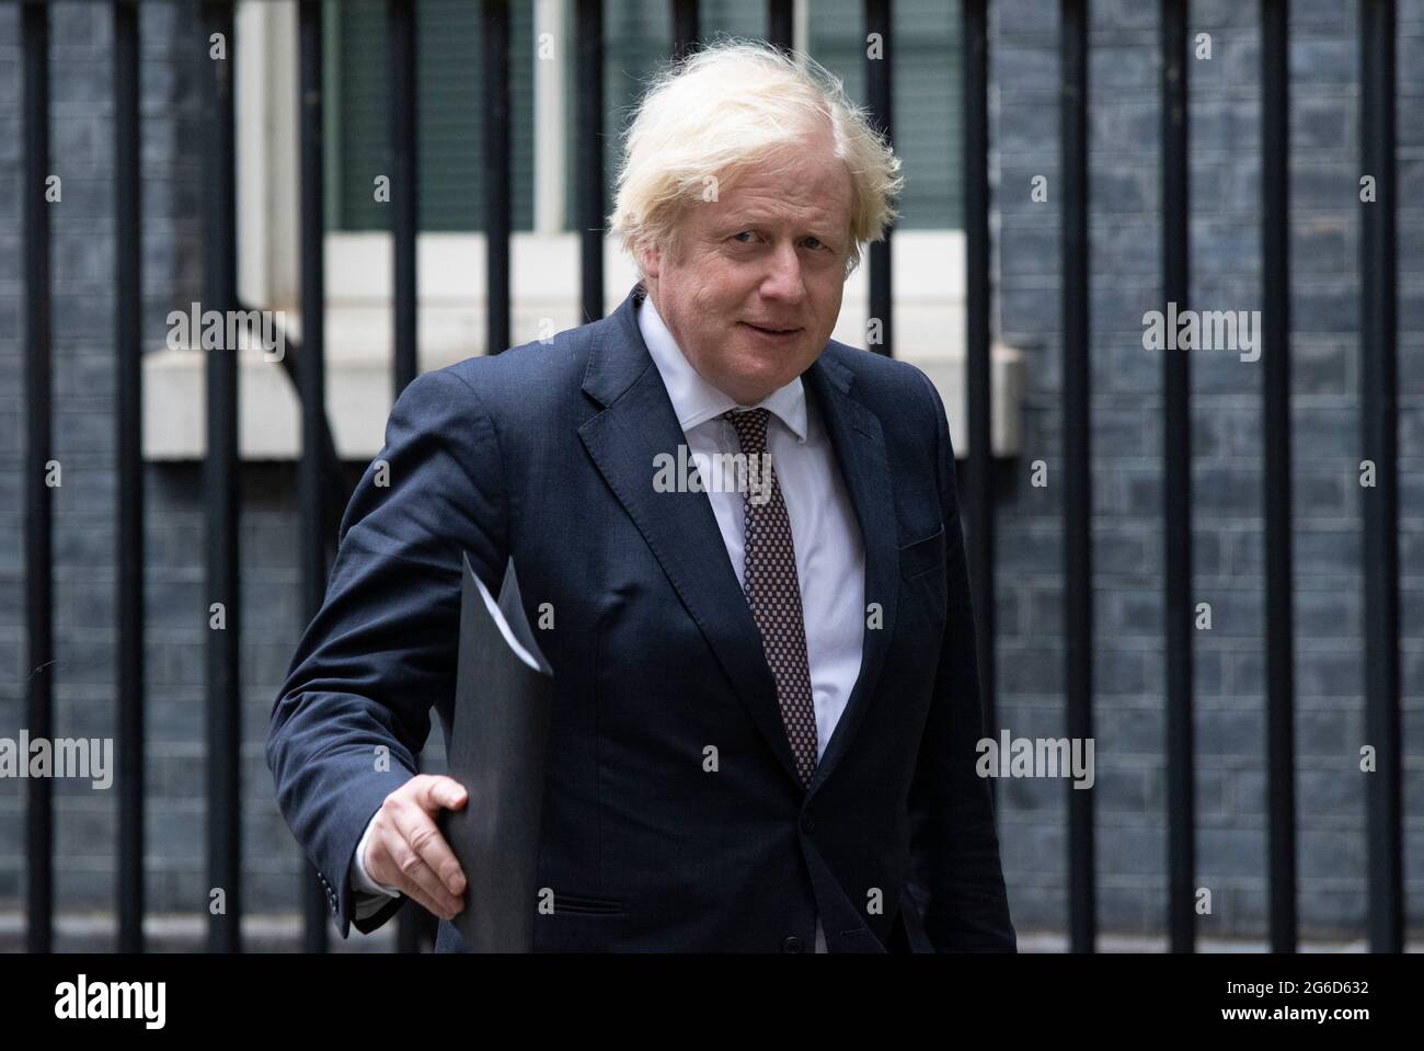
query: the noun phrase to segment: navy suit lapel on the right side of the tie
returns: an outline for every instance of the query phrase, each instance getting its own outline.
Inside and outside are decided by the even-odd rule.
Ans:
[[[866,551],[866,605],[877,602],[881,614],[879,628],[866,628],[860,675],[816,766],[807,793],[815,795],[850,748],[880,682],[890,639],[894,638],[900,595],[900,530],[884,432],[880,419],[856,399],[854,373],[827,347],[802,373],[802,382],[820,407],[842,479],[856,508]]]

